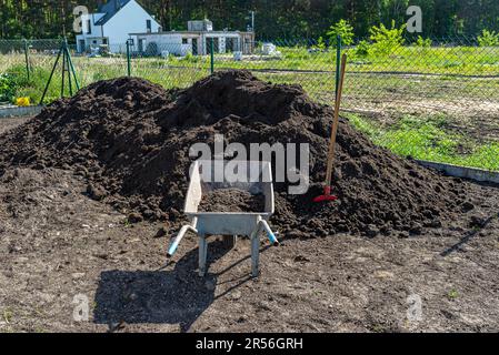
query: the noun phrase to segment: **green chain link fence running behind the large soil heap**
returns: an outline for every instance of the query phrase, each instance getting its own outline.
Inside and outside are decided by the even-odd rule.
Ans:
[[[40,101],[62,43],[0,40],[0,73],[18,81],[10,95],[0,92],[0,101]],[[247,69],[272,83],[300,84],[330,105],[338,53],[347,53],[343,113],[376,143],[402,155],[499,170],[499,45],[459,37],[346,47],[273,40],[242,47],[208,39],[202,45],[144,41],[69,49],[80,87],[130,73],[167,89],[187,88],[212,70]],[[46,102],[61,95],[59,67]]]

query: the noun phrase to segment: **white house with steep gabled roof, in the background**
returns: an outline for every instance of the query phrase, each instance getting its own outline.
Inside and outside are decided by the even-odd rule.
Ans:
[[[124,52],[129,33],[158,32],[160,24],[136,0],[108,0],[96,13],[81,17],[82,33],[77,50],[89,51],[107,44],[111,52]]]

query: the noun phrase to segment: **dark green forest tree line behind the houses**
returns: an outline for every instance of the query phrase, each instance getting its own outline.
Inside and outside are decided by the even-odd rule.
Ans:
[[[73,38],[72,10],[92,12],[103,0],[0,0],[0,38]],[[111,0],[112,1],[112,0]],[[259,39],[318,39],[347,20],[357,38],[372,26],[402,24],[409,6],[422,9],[423,37],[479,34],[499,29],[498,0],[138,0],[164,30],[184,30],[187,21],[208,18],[217,30],[246,30],[255,11]]]

